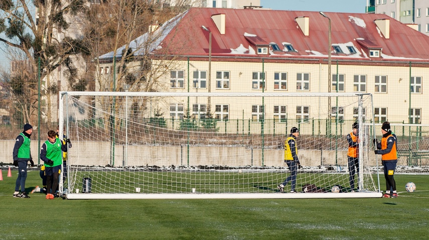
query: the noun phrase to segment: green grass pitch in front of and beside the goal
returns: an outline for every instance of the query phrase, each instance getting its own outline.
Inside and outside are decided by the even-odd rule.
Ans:
[[[21,199],[6,175],[0,239],[427,239],[429,227],[429,175],[396,174],[398,198],[237,200]],[[40,183],[30,171],[27,190]]]

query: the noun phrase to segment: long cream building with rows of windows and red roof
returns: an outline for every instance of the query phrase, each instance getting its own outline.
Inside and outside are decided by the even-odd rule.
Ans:
[[[427,123],[429,108],[424,100],[427,93],[423,80],[429,77],[429,49],[425,47],[429,46],[429,37],[382,14],[325,15],[332,23],[331,46],[328,19],[319,12],[303,15],[299,11],[192,8],[154,32],[163,38],[150,49],[153,63],[165,62],[159,57],[163,54],[175,56],[171,61],[176,62],[166,67],[157,83],[159,88],[154,90],[287,94],[331,89],[371,93],[377,123]],[[144,40],[149,38],[150,35],[140,36],[130,47],[146,46]],[[117,53],[122,51],[120,48]],[[135,51],[136,60],[139,52]],[[331,83],[327,77],[329,55]],[[121,57],[116,55],[116,59]],[[99,59],[103,78],[97,76],[96,81],[111,79],[113,52]],[[206,102],[196,98],[190,101],[195,117],[200,117]],[[311,105],[292,102],[244,106],[245,102],[212,99],[211,104],[215,117],[224,121],[237,117],[261,121],[261,112],[273,119],[317,117],[307,114]],[[238,105],[240,110],[234,111]],[[185,108],[183,102],[171,99],[170,108],[164,112],[179,120]],[[278,109],[285,110],[284,116],[278,116]],[[349,120],[355,118],[355,106],[338,109],[341,112],[334,108],[332,112]]]

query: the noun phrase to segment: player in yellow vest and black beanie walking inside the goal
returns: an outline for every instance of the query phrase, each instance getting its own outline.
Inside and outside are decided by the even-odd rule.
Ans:
[[[289,182],[291,185],[291,193],[295,193],[295,186],[297,184],[297,170],[301,168],[300,160],[298,159],[298,149],[297,149],[297,138],[300,136],[300,130],[296,127],[291,129],[291,134],[284,142],[284,162],[288,165],[291,175],[284,179],[283,183],[277,186],[277,189],[280,192],[284,192],[284,186]]]

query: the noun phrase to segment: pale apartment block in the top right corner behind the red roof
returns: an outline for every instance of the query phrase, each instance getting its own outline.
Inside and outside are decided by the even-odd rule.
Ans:
[[[429,35],[429,1],[370,0],[367,13],[385,14],[418,32]]]

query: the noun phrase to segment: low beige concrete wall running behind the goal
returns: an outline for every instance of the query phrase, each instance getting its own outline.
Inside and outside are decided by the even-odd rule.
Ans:
[[[12,163],[12,151],[15,141],[0,141],[0,162]],[[32,141],[31,152],[37,164],[38,143]],[[114,166],[179,166],[179,165],[221,165],[221,166],[262,166],[262,150],[245,147],[188,147],[187,146],[120,146],[114,148]],[[125,158],[125,153],[127,158]],[[347,151],[298,150],[302,166],[317,167],[320,165],[347,165]],[[263,165],[281,167],[284,151],[264,150]],[[375,155],[370,161],[375,166]],[[379,161],[381,158],[378,157]],[[74,165],[106,166],[112,164],[110,160],[110,144],[107,142],[74,142],[69,151],[69,159]],[[41,161],[41,163],[43,163]],[[379,162],[380,165],[380,162]],[[406,165],[404,157],[399,159],[398,165]]]

